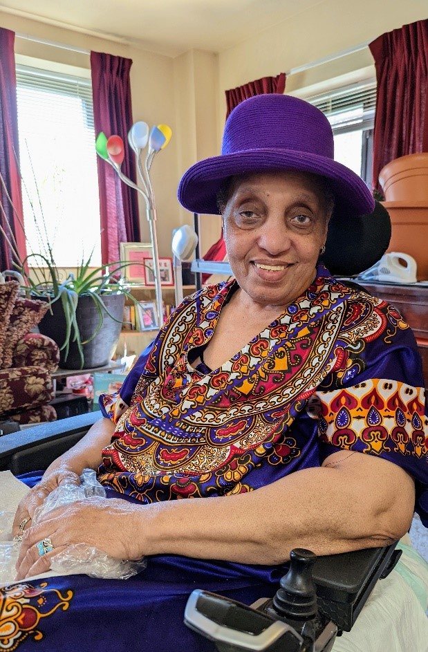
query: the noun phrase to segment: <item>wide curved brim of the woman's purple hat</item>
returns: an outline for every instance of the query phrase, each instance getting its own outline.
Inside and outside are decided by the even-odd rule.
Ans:
[[[371,213],[375,203],[362,178],[341,163],[289,149],[254,149],[214,156],[192,165],[178,186],[178,201],[194,213],[218,214],[216,195],[231,176],[293,170],[323,176],[335,196],[337,219]]]

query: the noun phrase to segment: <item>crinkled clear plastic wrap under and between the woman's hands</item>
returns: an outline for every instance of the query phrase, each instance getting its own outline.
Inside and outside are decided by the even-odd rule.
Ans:
[[[105,498],[104,487],[97,481],[93,469],[84,469],[80,485],[63,483],[50,492],[43,505],[37,508],[32,523],[38,523],[41,516],[56,507],[62,507],[86,498]],[[13,512],[0,512],[0,582],[13,581],[15,563],[19,555],[19,543],[12,541]],[[54,548],[55,553],[55,548]],[[50,568],[60,575],[84,573],[101,579],[127,579],[144,570],[145,559],[129,561],[113,559],[102,550],[86,546],[86,543],[71,544],[57,555],[50,557]]]

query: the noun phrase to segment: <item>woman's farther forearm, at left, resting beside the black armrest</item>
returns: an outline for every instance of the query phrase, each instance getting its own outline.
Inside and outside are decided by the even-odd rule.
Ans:
[[[115,424],[110,419],[101,418],[96,421],[77,444],[50,464],[45,475],[56,473],[60,469],[77,475],[80,475],[83,469],[97,469],[102,462],[101,451],[109,445],[114,430]]]

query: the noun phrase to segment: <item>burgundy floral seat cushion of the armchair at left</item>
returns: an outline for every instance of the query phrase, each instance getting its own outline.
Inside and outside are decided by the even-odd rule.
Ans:
[[[0,371],[0,417],[53,400],[53,382],[47,369],[24,366]]]

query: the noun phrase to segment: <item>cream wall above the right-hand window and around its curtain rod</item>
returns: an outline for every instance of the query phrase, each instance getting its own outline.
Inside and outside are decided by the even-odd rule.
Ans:
[[[218,58],[218,124],[221,125],[225,113],[225,90],[342,53],[427,17],[427,0],[324,0],[257,37],[236,44]],[[346,83],[374,74],[373,58],[369,48],[365,48],[289,77],[286,92],[335,77]]]

